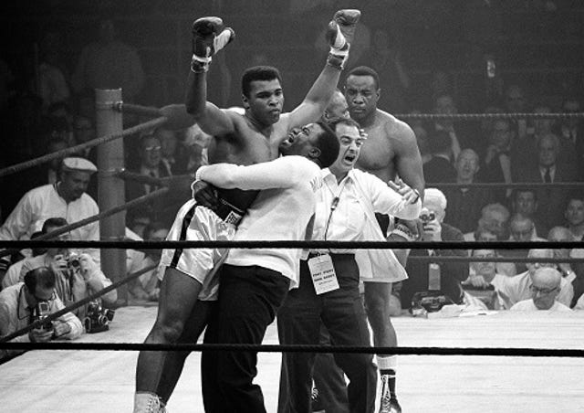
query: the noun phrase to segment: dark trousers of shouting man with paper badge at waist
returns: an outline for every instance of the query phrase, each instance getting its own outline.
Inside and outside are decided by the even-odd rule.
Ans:
[[[353,254],[332,254],[339,290],[317,295],[306,261],[300,263],[300,286],[288,293],[277,314],[281,344],[318,344],[320,325],[328,329],[337,345],[370,345],[367,315],[359,293],[359,268]],[[372,355],[335,354],[335,362],[349,377],[351,412],[368,413],[375,408],[377,371]],[[314,353],[282,356],[278,412],[310,411]]]

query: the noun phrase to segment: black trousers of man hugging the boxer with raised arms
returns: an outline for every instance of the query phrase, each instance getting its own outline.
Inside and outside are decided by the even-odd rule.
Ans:
[[[286,298],[290,281],[263,267],[221,270],[219,301],[204,343],[262,344],[267,326]],[[266,412],[264,396],[253,383],[256,352],[203,352],[203,403],[207,413]]]

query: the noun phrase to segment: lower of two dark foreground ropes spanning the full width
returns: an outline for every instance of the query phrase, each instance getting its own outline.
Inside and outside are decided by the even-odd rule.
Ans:
[[[322,344],[146,344],[146,343],[4,343],[0,349],[16,350],[93,350],[93,351],[246,351],[257,353],[342,353],[373,355],[482,355],[510,357],[584,357],[576,348],[531,347],[373,347]]]

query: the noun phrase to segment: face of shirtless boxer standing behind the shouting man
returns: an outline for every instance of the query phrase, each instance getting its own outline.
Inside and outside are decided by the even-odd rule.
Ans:
[[[376,110],[380,90],[373,77],[351,75],[345,85],[345,99],[350,117],[359,122]]]

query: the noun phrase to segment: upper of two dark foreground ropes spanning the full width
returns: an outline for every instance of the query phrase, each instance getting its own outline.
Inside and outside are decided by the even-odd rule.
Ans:
[[[161,190],[164,190],[162,188]],[[584,241],[87,241],[0,240],[0,248],[106,248],[106,249],[583,249]],[[485,260],[485,259],[483,259]]]

